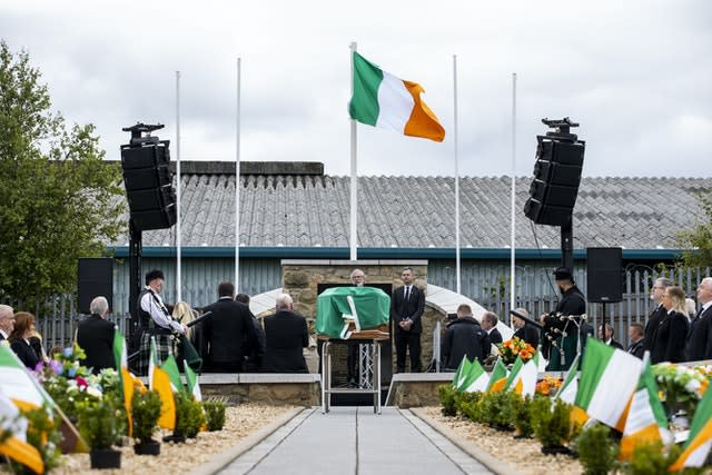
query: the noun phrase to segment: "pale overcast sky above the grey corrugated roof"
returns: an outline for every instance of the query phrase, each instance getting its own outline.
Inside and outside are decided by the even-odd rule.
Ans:
[[[241,159],[349,172],[349,49],[419,82],[442,144],[358,127],[358,172],[453,176],[453,55],[461,176],[531,176],[540,119],[568,116],[586,176],[710,177],[712,2],[0,0],[0,38],[26,49],[52,108],[97,126],[161,122],[182,160],[234,160],[237,58]]]

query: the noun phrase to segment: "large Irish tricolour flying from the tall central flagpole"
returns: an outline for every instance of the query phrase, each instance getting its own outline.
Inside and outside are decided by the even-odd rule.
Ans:
[[[367,126],[443,141],[445,129],[423,100],[421,85],[398,79],[354,51],[354,95],[348,112]]]

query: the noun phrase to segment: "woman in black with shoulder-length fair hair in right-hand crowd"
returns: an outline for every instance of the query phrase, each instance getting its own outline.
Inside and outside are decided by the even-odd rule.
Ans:
[[[685,338],[688,337],[688,314],[685,294],[680,287],[665,288],[663,308],[666,310],[653,340],[650,360],[680,363],[685,360]]]

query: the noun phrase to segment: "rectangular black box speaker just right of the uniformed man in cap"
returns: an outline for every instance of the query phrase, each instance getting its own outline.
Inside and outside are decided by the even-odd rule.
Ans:
[[[586,270],[589,301],[623,300],[623,249],[620,247],[587,248]]]

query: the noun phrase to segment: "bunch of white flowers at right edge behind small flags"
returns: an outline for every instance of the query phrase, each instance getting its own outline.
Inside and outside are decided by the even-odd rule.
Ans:
[[[665,403],[669,416],[683,409],[692,417],[694,409],[710,382],[703,373],[684,365],[659,363],[653,367],[660,399]]]

